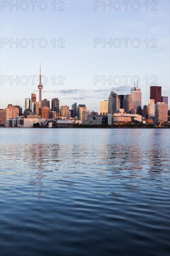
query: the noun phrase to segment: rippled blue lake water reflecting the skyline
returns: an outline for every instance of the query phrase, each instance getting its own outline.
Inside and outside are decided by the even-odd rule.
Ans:
[[[0,133],[2,256],[169,255],[169,129]]]

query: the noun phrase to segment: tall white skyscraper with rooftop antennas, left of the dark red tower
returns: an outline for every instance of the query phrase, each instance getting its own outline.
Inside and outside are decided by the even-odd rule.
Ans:
[[[134,87],[131,88],[131,97],[132,97],[132,101],[133,101],[134,114],[137,114],[137,111],[140,112],[140,110],[142,108],[141,88],[135,87],[135,85],[134,85]]]

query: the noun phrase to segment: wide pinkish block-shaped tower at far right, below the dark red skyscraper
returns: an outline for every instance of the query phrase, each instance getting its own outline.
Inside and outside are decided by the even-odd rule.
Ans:
[[[165,102],[157,102],[155,104],[155,122],[168,121],[168,104]]]

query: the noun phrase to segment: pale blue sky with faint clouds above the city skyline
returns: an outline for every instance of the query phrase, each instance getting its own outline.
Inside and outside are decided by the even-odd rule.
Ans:
[[[150,85],[170,96],[169,0],[111,1],[110,7],[109,1],[37,0],[34,10],[29,0],[18,1],[18,10],[17,1],[0,4],[0,108],[24,108],[33,91],[38,101],[40,62],[42,98],[58,97],[60,106],[77,102],[100,112],[112,89],[129,94],[137,80],[142,106]]]

